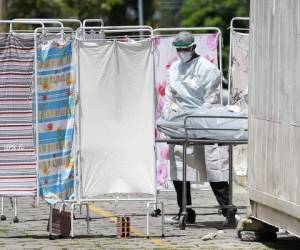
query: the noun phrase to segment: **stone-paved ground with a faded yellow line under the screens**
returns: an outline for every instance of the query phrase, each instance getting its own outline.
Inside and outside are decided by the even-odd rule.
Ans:
[[[193,203],[202,206],[214,206],[216,201],[211,191],[193,190]],[[167,214],[177,212],[175,193],[160,195],[164,201]],[[247,205],[247,193],[242,188],[235,188],[236,205]],[[223,218],[216,208],[196,209],[197,220],[186,230],[179,230],[175,225],[165,225],[165,237],[161,238],[161,218],[151,218],[151,237],[145,237],[146,218],[143,202],[95,203],[91,205],[91,232],[86,233],[85,211],[80,215],[76,210],[74,239],[49,240],[46,232],[49,209],[45,204],[38,208],[31,206],[31,198],[18,199],[19,223],[13,223],[13,210],[5,199],[7,220],[0,222],[1,249],[300,249],[300,239],[281,234],[276,242],[243,242],[236,236],[235,229],[223,229]],[[241,209],[243,216],[246,210]],[[116,238],[114,215],[130,215],[132,220],[132,237]],[[170,215],[169,215],[170,216]],[[78,219],[82,218],[82,219]],[[213,240],[203,241],[201,237],[208,233],[217,233]]]

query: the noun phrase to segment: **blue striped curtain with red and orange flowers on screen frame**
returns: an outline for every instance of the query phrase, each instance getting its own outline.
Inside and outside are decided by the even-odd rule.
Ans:
[[[39,190],[41,197],[55,203],[74,196],[72,41],[43,42],[37,55]]]

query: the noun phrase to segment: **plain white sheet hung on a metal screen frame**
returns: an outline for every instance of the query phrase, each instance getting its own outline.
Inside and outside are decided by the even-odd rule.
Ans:
[[[150,40],[80,42],[82,198],[155,194]]]

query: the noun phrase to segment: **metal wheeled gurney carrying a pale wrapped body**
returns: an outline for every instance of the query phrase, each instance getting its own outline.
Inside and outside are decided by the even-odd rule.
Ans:
[[[223,112],[221,110],[223,109]],[[224,115],[222,115],[222,113]],[[246,110],[230,113],[225,108],[217,110],[201,110],[201,112],[191,112],[190,114],[179,114],[168,119],[160,119],[157,128],[163,132],[166,137],[156,140],[157,143],[167,143],[182,145],[183,147],[183,212],[180,218],[179,227],[184,230],[186,226],[187,208],[186,205],[186,158],[187,147],[192,145],[213,145],[228,146],[229,152],[229,205],[227,218],[230,216],[232,204],[232,186],[233,186],[233,146],[248,143],[248,116]]]

